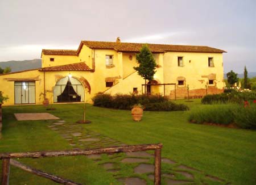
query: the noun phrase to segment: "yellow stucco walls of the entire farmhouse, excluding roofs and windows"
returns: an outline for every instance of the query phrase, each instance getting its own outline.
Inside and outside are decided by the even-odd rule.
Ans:
[[[113,68],[106,66],[106,55],[113,55]],[[132,58],[130,59],[130,56]],[[177,57],[183,56],[184,67],[177,66]],[[49,58],[55,58],[54,62],[50,62]],[[208,57],[213,57],[214,68],[209,68]],[[158,83],[177,83],[177,77],[185,78],[184,86],[176,86],[176,88],[189,85],[189,90],[204,89],[208,83],[210,74],[216,77],[214,86],[217,89],[223,88],[223,65],[222,53],[189,53],[189,52],[167,52],[154,54],[156,64],[156,74],[154,79]],[[98,92],[110,94],[129,94],[133,93],[133,88],[137,87],[141,93],[141,85],[144,84],[137,72],[133,69],[138,66],[135,53],[117,52],[108,49],[90,49],[85,45],[82,47],[79,56],[56,56],[44,55],[43,67],[73,64],[76,62],[85,62],[90,68],[94,68],[94,72],[46,72],[45,87],[46,98],[53,103],[53,88],[56,82],[63,77],[67,77],[69,73],[79,80],[86,80],[90,85],[89,89],[85,89],[86,102],[91,102],[92,97]],[[35,78],[36,81],[36,104],[42,104],[44,100],[44,72],[38,70],[30,70],[19,73],[11,73],[0,75],[1,91],[4,95],[9,96],[9,100],[4,103],[4,106],[14,104],[14,81],[8,81],[7,78]],[[106,87],[106,79],[114,79],[113,87]],[[163,94],[163,86],[152,86],[152,94]],[[174,86],[166,86],[165,93],[169,95],[174,90]],[[144,89],[143,89],[144,91]]]

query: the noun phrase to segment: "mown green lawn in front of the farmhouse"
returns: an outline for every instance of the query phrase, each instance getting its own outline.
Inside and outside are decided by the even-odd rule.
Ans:
[[[187,104],[191,110],[207,107],[201,105],[200,100]],[[55,104],[54,107],[56,110],[51,113],[63,120],[75,122],[82,118],[82,104]],[[3,107],[4,127],[0,152],[71,149],[66,140],[47,127],[47,121],[18,122],[14,119],[14,112],[45,112],[45,108]],[[188,113],[189,111],[144,112],[143,120],[137,123],[131,120],[130,111],[88,105],[87,119],[92,124],[83,127],[126,144],[161,142],[163,157],[218,176],[232,184],[256,184],[256,132],[191,124],[187,121]],[[84,157],[22,161],[77,182],[117,183],[112,175]],[[35,175],[21,174],[25,173],[12,167],[10,184],[51,184],[42,178],[39,180]]]

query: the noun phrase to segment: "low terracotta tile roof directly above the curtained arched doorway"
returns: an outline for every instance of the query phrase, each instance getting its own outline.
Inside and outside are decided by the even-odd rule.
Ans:
[[[59,65],[59,66],[51,66],[46,68],[40,68],[41,72],[56,72],[56,71],[90,71],[88,65],[84,62],[75,63],[75,64],[67,64],[67,65]]]

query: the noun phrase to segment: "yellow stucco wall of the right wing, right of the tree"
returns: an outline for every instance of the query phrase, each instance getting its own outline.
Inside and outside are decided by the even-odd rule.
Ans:
[[[183,57],[183,67],[177,65],[178,56]],[[213,57],[213,68],[208,66],[208,57]],[[216,74],[216,79],[214,79],[216,87],[222,89],[224,86],[222,53],[167,52],[164,53],[163,60],[164,83],[177,83],[177,77],[184,77],[184,86],[189,85],[190,90],[200,89],[208,85],[208,78],[206,76]],[[166,87],[167,94],[169,94],[171,90],[174,90],[173,86]]]

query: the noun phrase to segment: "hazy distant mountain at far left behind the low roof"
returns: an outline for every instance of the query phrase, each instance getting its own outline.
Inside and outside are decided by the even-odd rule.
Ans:
[[[1,68],[10,67],[11,72],[19,72],[19,71],[28,70],[28,69],[37,69],[37,68],[41,68],[41,59],[22,60],[22,61],[11,60],[7,62],[0,62],[0,67]]]

